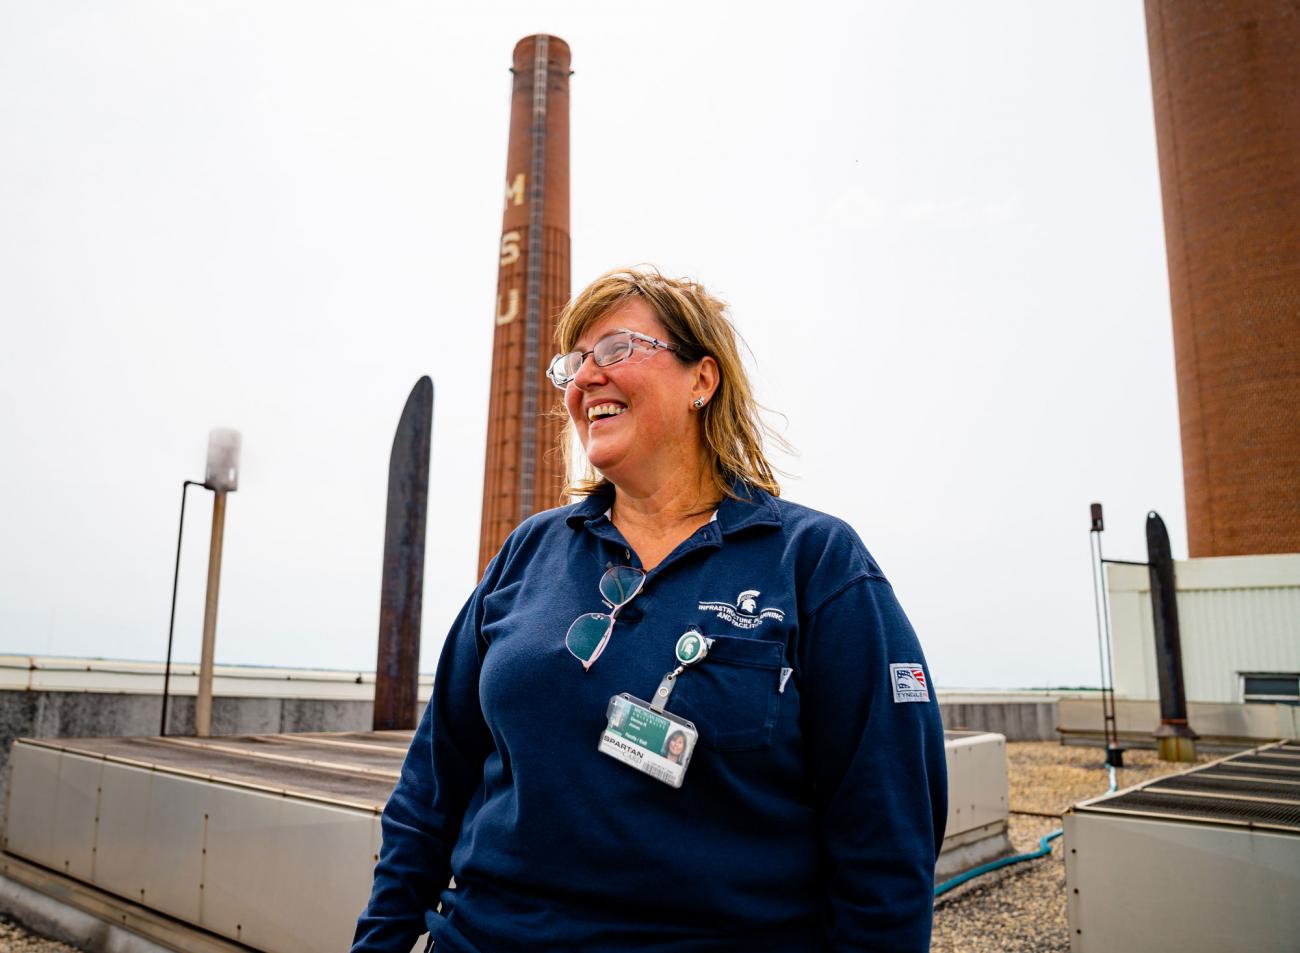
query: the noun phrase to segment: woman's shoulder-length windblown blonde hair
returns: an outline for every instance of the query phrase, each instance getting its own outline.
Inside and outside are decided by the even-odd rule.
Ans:
[[[564,311],[555,326],[555,343],[560,354],[573,350],[582,333],[611,309],[624,302],[640,298],[654,311],[668,341],[677,345],[676,356],[694,363],[703,356],[718,361],[718,390],[701,411],[705,454],[711,462],[712,486],[719,495],[740,498],[732,489],[737,478],[780,495],[776,471],[763,451],[764,438],[783,450],[790,446],[775,433],[762,412],[766,410],[754,399],[749,376],[741,363],[736,328],[727,319],[727,304],[708,294],[703,285],[690,278],[666,278],[653,267],[619,268],[602,274],[588,285]],[[585,459],[582,476],[573,478],[575,459],[580,451],[573,421],[566,415],[560,434],[564,455],[564,493],[586,497],[599,493],[608,481],[597,477],[595,469]],[[581,458],[580,458],[581,459]]]

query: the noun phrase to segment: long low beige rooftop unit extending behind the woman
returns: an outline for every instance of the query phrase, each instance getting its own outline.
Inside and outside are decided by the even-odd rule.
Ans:
[[[84,909],[110,920],[161,914],[165,932],[148,935],[177,949],[212,949],[211,933],[268,953],[347,949],[410,741],[386,731],[20,738],[0,874],[60,902],[91,897]],[[1006,738],[948,732],[944,748],[941,879],[1011,846]]]

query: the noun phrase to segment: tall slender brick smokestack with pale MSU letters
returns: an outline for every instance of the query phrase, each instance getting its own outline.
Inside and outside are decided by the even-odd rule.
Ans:
[[[564,485],[546,365],[569,296],[568,44],[525,36],[511,73],[480,573],[520,521],[560,503]]]

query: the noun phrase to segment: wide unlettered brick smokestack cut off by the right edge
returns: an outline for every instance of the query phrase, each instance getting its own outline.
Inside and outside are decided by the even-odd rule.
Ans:
[[[1147,0],[1192,556],[1300,553],[1300,7]]]

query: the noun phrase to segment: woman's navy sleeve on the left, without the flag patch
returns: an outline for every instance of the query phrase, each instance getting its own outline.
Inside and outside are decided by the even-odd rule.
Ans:
[[[451,878],[451,849],[491,749],[478,702],[481,592],[447,636],[433,697],[384,809],[384,845],[352,953],[407,953]]]

